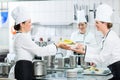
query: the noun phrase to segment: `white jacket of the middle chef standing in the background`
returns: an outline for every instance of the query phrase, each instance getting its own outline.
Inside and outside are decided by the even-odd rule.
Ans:
[[[71,35],[71,40],[90,46],[97,45],[95,36],[91,32],[86,32],[85,34],[81,34],[79,31],[73,32]]]

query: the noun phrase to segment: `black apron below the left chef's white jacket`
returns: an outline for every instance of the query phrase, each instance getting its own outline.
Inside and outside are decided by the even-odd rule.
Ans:
[[[33,65],[31,61],[19,60],[15,65],[15,78],[17,80],[32,80]]]

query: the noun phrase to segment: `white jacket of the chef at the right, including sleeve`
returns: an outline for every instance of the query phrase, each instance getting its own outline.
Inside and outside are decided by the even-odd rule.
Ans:
[[[87,46],[85,61],[105,66],[120,61],[120,38],[111,30],[104,39],[102,49]]]

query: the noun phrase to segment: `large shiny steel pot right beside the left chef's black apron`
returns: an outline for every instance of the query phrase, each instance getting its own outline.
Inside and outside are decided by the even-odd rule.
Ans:
[[[41,76],[45,76],[47,74],[45,61],[34,60],[33,66],[34,66],[34,76],[35,77],[41,77]]]

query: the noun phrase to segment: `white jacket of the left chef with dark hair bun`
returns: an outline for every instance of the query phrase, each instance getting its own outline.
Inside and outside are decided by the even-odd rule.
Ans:
[[[31,36],[27,33],[17,33],[14,36],[14,53],[16,54],[16,61],[18,60],[29,60],[32,61],[34,55],[46,56],[55,55],[56,46],[54,44],[46,47],[39,47],[36,45]]]

